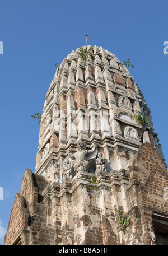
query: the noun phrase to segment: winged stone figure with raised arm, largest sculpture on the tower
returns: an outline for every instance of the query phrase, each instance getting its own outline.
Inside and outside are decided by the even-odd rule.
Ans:
[[[77,152],[68,153],[69,162],[73,164],[74,171],[87,171],[89,169],[89,160],[94,159],[97,155],[97,147],[94,145],[92,150],[86,150],[86,143],[83,141],[78,142]]]

